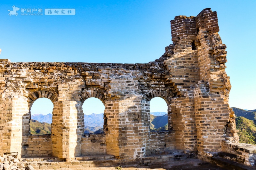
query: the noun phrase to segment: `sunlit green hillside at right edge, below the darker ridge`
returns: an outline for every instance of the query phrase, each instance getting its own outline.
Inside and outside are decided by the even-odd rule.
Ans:
[[[245,117],[236,118],[236,129],[239,130],[238,136],[240,143],[256,145],[256,121],[249,120]]]

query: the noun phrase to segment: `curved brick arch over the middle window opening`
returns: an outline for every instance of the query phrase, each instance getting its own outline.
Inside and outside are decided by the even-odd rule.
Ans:
[[[90,88],[90,89],[84,89],[81,95],[82,99],[81,102],[84,103],[84,101],[90,97],[95,97],[97,99],[100,99],[100,101],[105,105],[106,102],[106,96],[104,95],[104,91],[97,88]]]

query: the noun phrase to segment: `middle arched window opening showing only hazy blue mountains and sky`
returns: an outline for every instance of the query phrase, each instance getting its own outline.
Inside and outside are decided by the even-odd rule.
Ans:
[[[104,133],[104,110],[100,99],[91,97],[84,101],[84,133]]]

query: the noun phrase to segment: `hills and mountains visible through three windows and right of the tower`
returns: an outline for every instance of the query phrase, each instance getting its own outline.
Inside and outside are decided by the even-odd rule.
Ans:
[[[256,144],[256,110],[232,108],[236,117],[236,129],[241,143]],[[166,112],[150,113],[151,131],[168,130]],[[42,123],[44,122],[44,123]],[[103,113],[84,115],[84,133],[103,133]],[[31,134],[51,134],[52,114],[31,116]]]

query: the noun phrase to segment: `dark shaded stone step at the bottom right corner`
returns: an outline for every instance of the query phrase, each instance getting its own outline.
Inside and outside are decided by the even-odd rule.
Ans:
[[[221,158],[219,156],[217,157],[211,157],[210,163],[223,167],[227,170],[255,170],[255,168],[246,166],[237,162],[234,162],[232,160],[228,160],[225,158]]]

